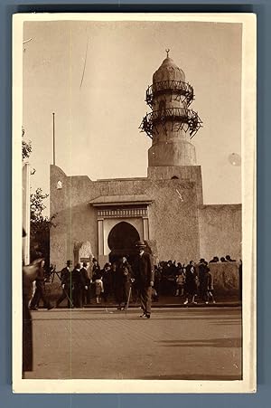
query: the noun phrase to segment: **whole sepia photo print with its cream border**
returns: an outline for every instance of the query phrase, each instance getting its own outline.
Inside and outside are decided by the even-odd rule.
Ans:
[[[14,392],[255,392],[255,15],[13,35]]]

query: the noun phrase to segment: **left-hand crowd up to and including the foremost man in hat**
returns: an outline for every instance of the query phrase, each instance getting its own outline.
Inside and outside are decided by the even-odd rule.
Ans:
[[[82,308],[84,305],[99,304],[108,299],[117,302],[118,309],[127,308],[129,300],[140,302],[144,317],[149,318],[151,295],[154,290],[154,264],[150,254],[145,252],[145,243],[137,243],[138,254],[135,256],[133,268],[126,257],[118,261],[107,262],[100,268],[96,259],[92,260],[91,269],[87,269],[87,262],[75,265],[67,261],[65,268],[57,272],[51,265],[50,273],[40,274],[35,280],[35,291],[30,302],[30,309],[37,310],[42,299],[45,308],[58,308],[63,300],[67,300],[69,308]],[[61,296],[56,300],[55,306],[51,305],[45,294],[44,281],[58,276],[61,283]],[[133,291],[132,291],[133,284]]]

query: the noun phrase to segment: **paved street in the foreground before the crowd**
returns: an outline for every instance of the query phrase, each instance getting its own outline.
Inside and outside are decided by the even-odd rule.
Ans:
[[[241,308],[53,309],[33,312],[26,378],[233,380],[241,375]]]

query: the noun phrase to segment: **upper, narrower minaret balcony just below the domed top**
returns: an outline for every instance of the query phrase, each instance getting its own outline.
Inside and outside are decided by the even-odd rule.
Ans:
[[[173,99],[185,101],[187,106],[194,100],[194,91],[188,82],[171,80],[154,82],[150,85],[145,93],[145,101],[152,108],[154,98],[163,94],[171,94]]]

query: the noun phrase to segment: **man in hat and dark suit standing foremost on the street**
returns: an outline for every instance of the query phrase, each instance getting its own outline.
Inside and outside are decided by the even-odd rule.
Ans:
[[[135,280],[143,310],[141,318],[150,318],[152,312],[152,288],[154,286],[154,263],[152,257],[145,252],[145,242],[137,242],[136,247],[139,254],[135,262]]]

